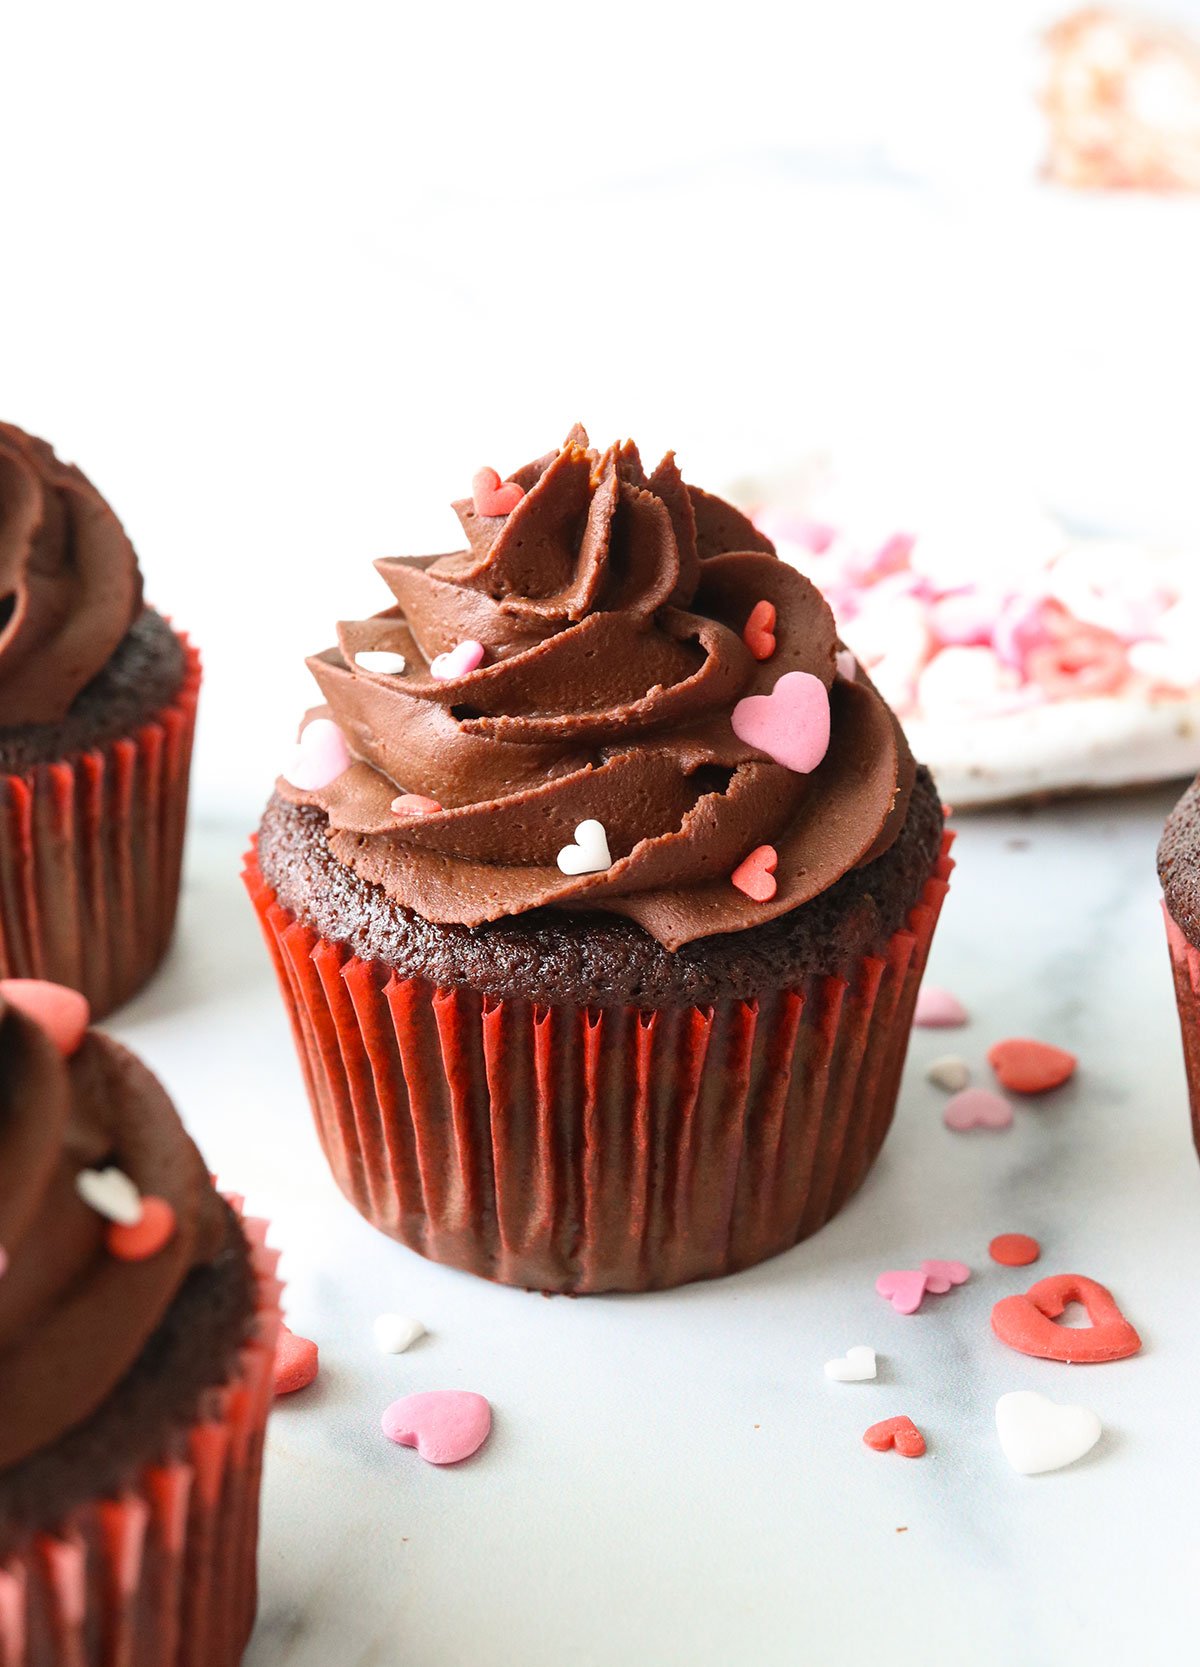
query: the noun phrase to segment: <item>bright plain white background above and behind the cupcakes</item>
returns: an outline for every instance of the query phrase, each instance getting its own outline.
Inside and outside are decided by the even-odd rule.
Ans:
[[[8,7],[0,412],[200,642],[202,815],[372,558],[577,418],[712,487],[862,455],[965,538],[1200,520],[1198,210],[1035,185],[1052,10]]]

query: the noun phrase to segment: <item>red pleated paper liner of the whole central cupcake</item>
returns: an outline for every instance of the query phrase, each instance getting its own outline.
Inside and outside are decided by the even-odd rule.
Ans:
[[[542,1007],[388,975],[245,882],[325,1155],[350,1202],[435,1262],[540,1290],[650,1290],[787,1250],[860,1185],[892,1124],[947,894],[852,975],[752,1002]]]

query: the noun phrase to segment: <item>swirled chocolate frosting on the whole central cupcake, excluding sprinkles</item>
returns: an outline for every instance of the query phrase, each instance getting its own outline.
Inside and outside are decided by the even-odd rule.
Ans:
[[[888,849],[915,765],[862,672],[837,672],[833,617],[732,505],[683,482],[672,453],[647,477],[633,445],[592,450],[582,428],[510,477],[507,517],[455,503],[467,548],[385,558],[395,605],[338,625],[308,665],[352,767],[318,790],[340,862],[437,924],[532,909],[627,915],[667,949],[787,914]],[[758,602],[777,647],[742,638]],[[450,680],[433,658],[473,638],[483,663]],[[403,655],[402,675],[355,655]],[[802,775],[738,740],[735,703],[788,672],[830,693],[832,740]],[[398,792],[433,813],[397,817]],[[568,875],[557,854],[598,820],[612,865]],[[777,849],[777,892],[730,875]]]

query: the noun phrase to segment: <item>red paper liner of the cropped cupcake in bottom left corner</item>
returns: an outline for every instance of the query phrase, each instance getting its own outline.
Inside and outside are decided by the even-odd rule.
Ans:
[[[242,1212],[242,1200],[230,1199]],[[0,1667],[237,1667],[258,1600],[258,1490],[280,1327],[278,1252],[242,1219],[257,1315],[230,1380],[115,1499],[0,1564]]]

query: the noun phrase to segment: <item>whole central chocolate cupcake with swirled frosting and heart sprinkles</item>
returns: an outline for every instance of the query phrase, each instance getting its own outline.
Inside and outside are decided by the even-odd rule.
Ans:
[[[308,663],[247,882],[342,1190],[423,1255],[645,1290],[788,1249],[887,1134],[950,870],[820,593],[582,430]]]

